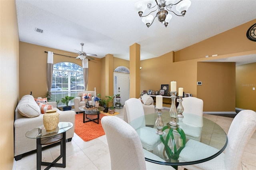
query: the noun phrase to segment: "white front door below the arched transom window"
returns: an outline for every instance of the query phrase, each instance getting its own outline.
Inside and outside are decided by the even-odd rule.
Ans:
[[[114,72],[114,95],[120,94],[121,105],[130,98],[130,74]]]

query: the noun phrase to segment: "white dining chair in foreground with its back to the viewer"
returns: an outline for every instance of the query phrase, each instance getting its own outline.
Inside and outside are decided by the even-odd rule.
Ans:
[[[145,161],[145,155],[165,162],[162,158],[142,148],[136,130],[115,116],[101,119],[106,133],[112,170],[174,170],[171,166]]]

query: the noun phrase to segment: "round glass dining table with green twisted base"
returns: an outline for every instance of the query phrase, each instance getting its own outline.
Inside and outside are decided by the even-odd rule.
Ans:
[[[178,126],[173,127],[169,124],[171,121],[169,112],[162,112],[164,134],[151,134],[158,135],[159,138],[157,141],[152,141],[155,144],[150,149],[143,145],[142,138],[145,137],[145,130],[140,130],[138,127],[146,126],[157,131],[154,122],[156,122],[158,114],[144,115],[129,123],[138,132],[144,149],[152,153],[145,154],[146,161],[170,166],[198,164],[215,158],[225,150],[228,138],[226,132],[218,124],[202,116],[190,113],[183,113],[183,115],[184,118],[176,118]],[[147,139],[149,138],[147,136]],[[195,143],[201,142],[212,146],[213,151],[208,152],[204,148],[196,146],[190,147],[189,152],[193,152],[193,158],[183,158],[183,156],[186,157],[184,150],[187,149],[186,144],[189,140],[190,143],[195,141]]]

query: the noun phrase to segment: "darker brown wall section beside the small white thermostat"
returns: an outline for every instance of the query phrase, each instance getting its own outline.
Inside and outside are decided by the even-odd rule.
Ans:
[[[235,111],[236,63],[198,62],[197,97],[204,101],[205,112]]]

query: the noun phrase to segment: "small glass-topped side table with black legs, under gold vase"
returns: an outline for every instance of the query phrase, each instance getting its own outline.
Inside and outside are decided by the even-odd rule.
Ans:
[[[66,167],[66,131],[73,127],[70,122],[60,122],[56,130],[47,132],[44,126],[36,127],[26,132],[27,138],[36,138],[36,169],[41,170],[41,165],[47,166],[45,170],[52,166]],[[60,156],[53,162],[42,162],[42,145],[53,144],[60,141]],[[56,163],[62,158],[62,164]]]

